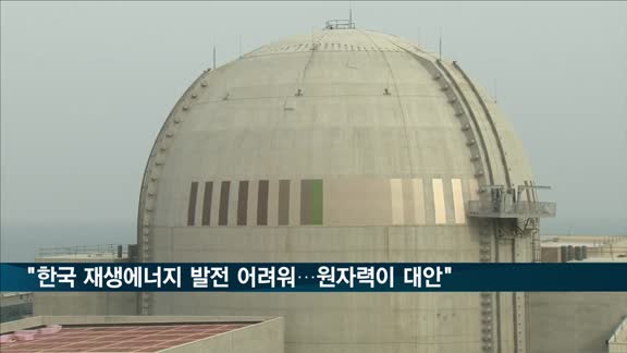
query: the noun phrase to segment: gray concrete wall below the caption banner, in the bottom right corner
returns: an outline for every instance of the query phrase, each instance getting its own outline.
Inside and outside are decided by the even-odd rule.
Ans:
[[[529,293],[529,301],[531,353],[606,353],[627,315],[627,293]]]

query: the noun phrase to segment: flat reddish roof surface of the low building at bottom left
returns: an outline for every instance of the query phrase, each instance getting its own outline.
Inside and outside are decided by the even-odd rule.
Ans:
[[[2,343],[2,353],[160,352],[255,322],[173,322],[63,326],[32,341]]]

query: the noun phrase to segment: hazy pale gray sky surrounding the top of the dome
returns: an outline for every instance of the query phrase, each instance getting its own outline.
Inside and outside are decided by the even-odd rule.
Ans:
[[[605,219],[627,233],[627,3],[353,8],[358,27],[429,50],[442,32],[444,56],[496,94],[537,181],[554,187],[543,196],[558,203],[562,231],[589,232],[582,222]],[[213,45],[224,63],[239,53],[239,38],[246,52],[321,28],[347,9],[331,1],[2,1],[2,224],[134,222],[153,138],[210,66]]]

